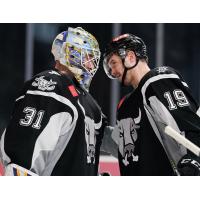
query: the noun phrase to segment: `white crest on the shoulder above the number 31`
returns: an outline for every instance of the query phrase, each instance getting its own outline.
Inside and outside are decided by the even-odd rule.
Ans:
[[[44,79],[44,76],[40,76],[39,78],[36,78],[35,81],[32,83],[32,86],[38,87],[39,90],[42,91],[52,91],[55,89],[55,85],[57,82],[54,82],[52,80],[47,81]]]

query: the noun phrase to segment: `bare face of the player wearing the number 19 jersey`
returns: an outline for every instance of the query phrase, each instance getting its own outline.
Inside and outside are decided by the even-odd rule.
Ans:
[[[121,81],[124,73],[124,66],[121,58],[118,55],[113,54],[108,61],[108,66],[112,76]]]

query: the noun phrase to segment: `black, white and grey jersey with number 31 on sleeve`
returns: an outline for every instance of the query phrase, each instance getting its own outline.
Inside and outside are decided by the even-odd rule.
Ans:
[[[1,138],[4,165],[38,175],[97,175],[102,112],[78,82],[56,70],[25,83]]]

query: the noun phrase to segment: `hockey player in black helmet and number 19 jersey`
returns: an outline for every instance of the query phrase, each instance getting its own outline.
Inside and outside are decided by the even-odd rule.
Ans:
[[[200,109],[180,74],[170,67],[150,70],[146,45],[132,34],[108,44],[104,70],[134,88],[118,105],[112,133],[121,175],[200,175],[199,157],[167,136],[150,112],[200,146]]]

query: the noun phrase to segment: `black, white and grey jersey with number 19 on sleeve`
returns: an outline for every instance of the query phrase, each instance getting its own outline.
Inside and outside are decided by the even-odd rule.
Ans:
[[[174,175],[178,161],[194,154],[158,129],[146,105],[200,146],[200,109],[188,85],[174,69],[155,68],[118,106],[121,175]]]

